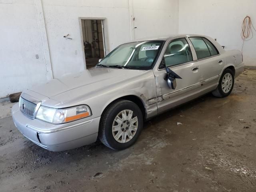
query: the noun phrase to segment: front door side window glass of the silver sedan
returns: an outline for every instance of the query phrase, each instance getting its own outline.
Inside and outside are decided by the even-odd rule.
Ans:
[[[170,42],[164,53],[164,60],[166,67],[193,61],[192,53],[186,39],[180,38]]]

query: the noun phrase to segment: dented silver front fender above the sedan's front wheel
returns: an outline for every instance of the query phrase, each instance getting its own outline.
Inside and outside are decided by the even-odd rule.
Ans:
[[[91,98],[83,101],[90,106],[94,118],[102,115],[106,107],[124,96],[136,96],[145,108],[146,118],[157,114],[156,102],[149,102],[156,98],[156,81],[152,70],[133,79],[115,83],[94,93]]]

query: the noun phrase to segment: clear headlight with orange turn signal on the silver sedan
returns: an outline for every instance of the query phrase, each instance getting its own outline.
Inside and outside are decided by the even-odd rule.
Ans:
[[[40,106],[36,114],[36,118],[53,124],[61,124],[86,118],[91,115],[91,110],[86,105],[80,105],[65,109],[55,109]]]

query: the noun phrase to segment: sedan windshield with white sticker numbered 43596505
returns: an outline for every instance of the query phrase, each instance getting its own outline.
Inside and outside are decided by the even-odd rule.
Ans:
[[[152,69],[164,41],[143,41],[122,44],[97,66],[123,69]]]

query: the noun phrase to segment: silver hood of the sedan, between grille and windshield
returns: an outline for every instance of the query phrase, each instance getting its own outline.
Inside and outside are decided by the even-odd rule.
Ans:
[[[53,79],[37,86],[31,91],[52,100],[65,103],[82,94],[89,94],[99,89],[108,88],[112,84],[141,75],[145,70],[92,68],[83,72]]]

